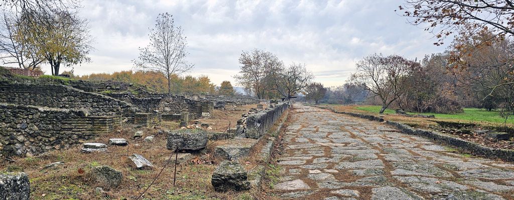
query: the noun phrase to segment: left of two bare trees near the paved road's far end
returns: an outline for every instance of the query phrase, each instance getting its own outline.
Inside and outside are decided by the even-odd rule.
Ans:
[[[259,49],[243,51],[239,63],[241,70],[234,78],[258,99],[264,98],[273,87],[273,72],[283,68],[282,61],[276,55]]]

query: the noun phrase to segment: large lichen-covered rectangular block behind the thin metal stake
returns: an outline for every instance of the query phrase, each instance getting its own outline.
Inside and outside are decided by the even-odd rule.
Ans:
[[[172,130],[168,132],[168,143],[166,148],[169,150],[199,150],[207,146],[209,137],[204,130]]]

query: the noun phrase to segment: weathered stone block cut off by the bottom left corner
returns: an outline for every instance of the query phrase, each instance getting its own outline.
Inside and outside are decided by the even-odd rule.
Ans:
[[[28,200],[29,197],[30,183],[26,173],[0,172],[0,199]]]

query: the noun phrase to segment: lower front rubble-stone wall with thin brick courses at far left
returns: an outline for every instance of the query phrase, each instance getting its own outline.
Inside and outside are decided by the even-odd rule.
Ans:
[[[121,116],[82,117],[75,109],[0,103],[0,157],[69,148],[121,123]]]

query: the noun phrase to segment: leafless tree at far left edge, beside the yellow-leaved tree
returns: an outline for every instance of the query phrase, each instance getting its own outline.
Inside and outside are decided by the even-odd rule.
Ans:
[[[4,64],[17,64],[21,69],[34,70],[39,64],[45,61],[43,57],[36,54],[33,47],[24,43],[16,26],[19,21],[15,14],[4,10],[0,24],[0,59]]]

